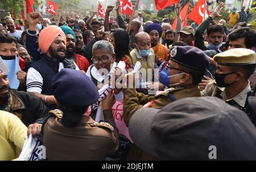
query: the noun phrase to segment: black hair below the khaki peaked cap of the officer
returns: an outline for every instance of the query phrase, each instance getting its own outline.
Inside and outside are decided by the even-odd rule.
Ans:
[[[251,74],[253,74],[253,72],[255,71],[256,64],[243,65],[243,66],[229,65],[229,68],[232,72],[242,71],[243,75],[245,75],[245,80],[247,80],[250,78]]]

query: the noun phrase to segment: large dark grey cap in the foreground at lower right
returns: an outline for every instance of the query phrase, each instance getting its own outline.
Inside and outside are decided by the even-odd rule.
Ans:
[[[215,97],[141,108],[129,123],[134,144],[158,160],[256,160],[256,130],[239,109]]]

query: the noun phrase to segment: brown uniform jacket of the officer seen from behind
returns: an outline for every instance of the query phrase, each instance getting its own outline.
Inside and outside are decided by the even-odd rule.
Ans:
[[[61,119],[49,118],[43,128],[47,160],[105,160],[117,151],[119,137],[111,110],[104,110],[104,117],[111,126],[82,117],[78,126],[68,128]]]

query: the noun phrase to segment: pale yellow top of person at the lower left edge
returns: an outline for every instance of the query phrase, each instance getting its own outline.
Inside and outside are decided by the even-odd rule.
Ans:
[[[14,114],[0,110],[0,161],[18,158],[27,127]]]

